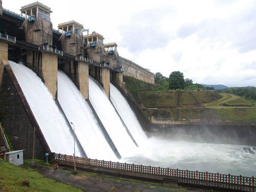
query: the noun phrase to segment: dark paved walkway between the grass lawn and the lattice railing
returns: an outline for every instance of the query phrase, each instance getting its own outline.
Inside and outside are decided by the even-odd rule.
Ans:
[[[23,165],[28,167],[29,165]],[[208,190],[180,187],[177,184],[163,185],[161,183],[153,183],[146,181],[139,181],[133,179],[126,179],[121,177],[107,176],[103,174],[96,174],[90,172],[83,172],[78,170],[77,175],[73,175],[73,169],[65,167],[58,167],[54,170],[53,165],[46,165],[45,163],[35,163],[32,168],[45,177],[55,179],[59,182],[72,185],[84,191],[134,191],[134,192],[165,192],[165,191],[200,191],[206,192]]]

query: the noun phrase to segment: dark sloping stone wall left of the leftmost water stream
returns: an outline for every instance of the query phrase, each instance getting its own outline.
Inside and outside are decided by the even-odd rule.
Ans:
[[[25,150],[24,158],[31,159],[35,127],[35,158],[45,159],[51,152],[35,120],[29,104],[19,87],[10,66],[4,69],[0,84],[0,121],[14,150]]]

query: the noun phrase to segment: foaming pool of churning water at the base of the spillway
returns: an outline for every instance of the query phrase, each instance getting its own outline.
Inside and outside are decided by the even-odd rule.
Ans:
[[[147,146],[122,162],[201,172],[256,175],[256,154],[243,152],[241,145],[172,141],[151,137]]]

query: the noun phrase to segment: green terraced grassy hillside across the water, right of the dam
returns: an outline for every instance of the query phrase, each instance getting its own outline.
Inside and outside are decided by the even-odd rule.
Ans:
[[[124,81],[136,101],[143,103],[141,110],[146,118],[175,121],[183,119],[256,121],[255,100],[247,101],[238,95],[216,91],[159,91],[154,90],[156,86],[132,77],[124,77]],[[179,108],[177,103],[180,104]]]

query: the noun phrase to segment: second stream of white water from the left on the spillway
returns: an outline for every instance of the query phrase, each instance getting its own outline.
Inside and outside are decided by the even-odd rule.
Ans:
[[[58,101],[68,120],[75,125],[75,134],[87,156],[92,159],[116,160],[88,102],[62,71],[58,71]]]

